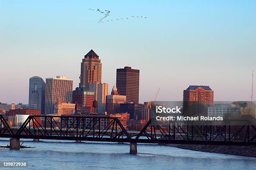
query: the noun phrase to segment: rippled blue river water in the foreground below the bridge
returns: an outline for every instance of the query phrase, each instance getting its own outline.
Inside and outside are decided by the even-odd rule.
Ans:
[[[0,148],[0,162],[27,162],[27,167],[0,170],[256,170],[256,158],[183,150],[163,145],[138,144],[138,154],[129,154],[130,145],[101,142],[21,140],[35,147],[20,150]],[[0,139],[0,145],[9,145]]]

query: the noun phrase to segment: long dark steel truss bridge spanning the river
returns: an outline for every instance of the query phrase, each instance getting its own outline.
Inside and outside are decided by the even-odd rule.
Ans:
[[[240,122],[241,124],[241,122]],[[256,146],[256,127],[243,120],[242,125],[160,126],[148,123],[138,133],[131,134],[116,117],[91,116],[33,116],[18,129],[13,129],[0,115],[0,137],[76,140],[156,144],[236,145]]]

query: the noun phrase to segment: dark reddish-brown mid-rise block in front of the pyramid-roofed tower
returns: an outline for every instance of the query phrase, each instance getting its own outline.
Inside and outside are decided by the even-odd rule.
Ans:
[[[94,91],[88,87],[77,87],[73,91],[73,103],[77,103],[77,110],[81,113],[93,113]]]

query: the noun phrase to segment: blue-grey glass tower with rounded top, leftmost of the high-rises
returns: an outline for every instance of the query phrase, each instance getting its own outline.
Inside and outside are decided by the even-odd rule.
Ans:
[[[41,110],[44,114],[45,82],[41,77],[29,79],[28,109]]]

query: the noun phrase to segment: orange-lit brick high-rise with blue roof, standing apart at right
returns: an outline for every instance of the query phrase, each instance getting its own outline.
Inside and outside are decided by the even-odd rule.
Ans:
[[[189,86],[183,91],[183,114],[207,116],[208,107],[213,107],[213,95],[209,86]]]

